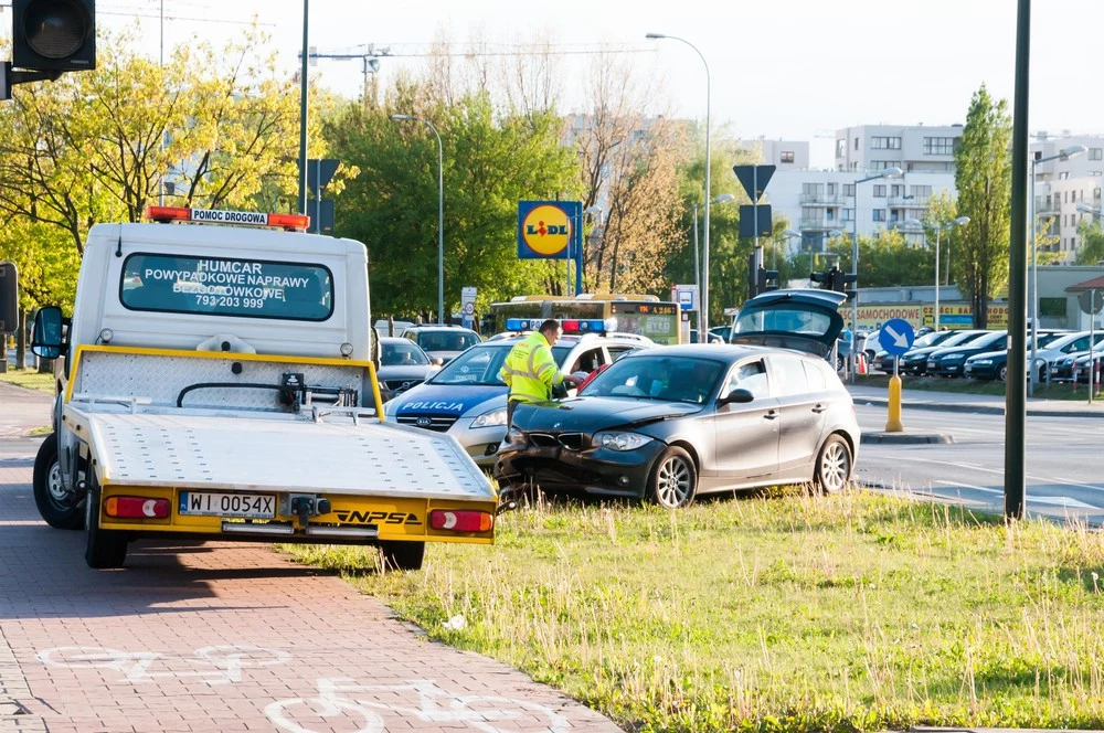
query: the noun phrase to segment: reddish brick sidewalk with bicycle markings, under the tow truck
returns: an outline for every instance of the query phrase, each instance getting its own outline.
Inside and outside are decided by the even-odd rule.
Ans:
[[[619,730],[267,545],[139,543],[92,571],[30,480],[0,461],[0,730]]]

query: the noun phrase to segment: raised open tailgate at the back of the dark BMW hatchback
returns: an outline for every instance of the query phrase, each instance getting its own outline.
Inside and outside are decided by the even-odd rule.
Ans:
[[[729,340],[827,357],[843,330],[839,306],[845,300],[847,296],[835,290],[772,290],[757,295],[740,309]]]

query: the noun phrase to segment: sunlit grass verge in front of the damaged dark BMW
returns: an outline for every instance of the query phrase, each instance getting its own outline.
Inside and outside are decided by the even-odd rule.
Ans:
[[[493,548],[288,546],[633,731],[1104,724],[1104,544],[866,491],[539,506]],[[446,626],[463,615],[463,628]]]

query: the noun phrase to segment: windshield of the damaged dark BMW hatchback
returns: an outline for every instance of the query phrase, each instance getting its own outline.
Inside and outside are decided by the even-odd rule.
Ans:
[[[724,364],[710,359],[622,359],[594,378],[586,396],[703,404],[713,393],[723,369]]]

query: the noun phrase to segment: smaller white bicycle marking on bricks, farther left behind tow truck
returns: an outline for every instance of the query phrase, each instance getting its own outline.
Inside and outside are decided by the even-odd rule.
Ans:
[[[283,649],[220,645],[197,649],[190,657],[106,647],[54,647],[40,651],[38,658],[47,667],[114,669],[128,682],[198,678],[204,684],[214,686],[241,682],[243,669],[285,665],[291,660],[291,655]]]

